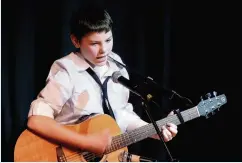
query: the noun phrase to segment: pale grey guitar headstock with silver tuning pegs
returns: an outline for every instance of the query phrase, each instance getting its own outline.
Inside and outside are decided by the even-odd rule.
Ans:
[[[215,91],[212,94],[207,93],[206,98],[204,100],[201,97],[201,102],[197,105],[200,116],[205,116],[206,118],[209,118],[211,114],[215,114],[215,111],[219,111],[219,108],[227,103],[226,96],[224,94],[217,96]]]

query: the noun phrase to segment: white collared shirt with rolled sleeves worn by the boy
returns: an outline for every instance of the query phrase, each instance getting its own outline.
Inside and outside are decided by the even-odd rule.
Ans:
[[[110,56],[123,63],[117,54],[112,52]],[[129,78],[125,68],[120,69],[111,60],[107,63],[108,65],[93,68],[102,83],[115,71],[120,71],[124,77]],[[80,53],[72,52],[56,60],[51,66],[46,86],[31,103],[28,116],[43,115],[55,119],[60,124],[73,124],[83,115],[103,114],[101,88],[86,72],[89,67]],[[128,103],[127,88],[110,79],[107,92],[116,122],[122,132],[147,124],[136,115],[132,104]]]

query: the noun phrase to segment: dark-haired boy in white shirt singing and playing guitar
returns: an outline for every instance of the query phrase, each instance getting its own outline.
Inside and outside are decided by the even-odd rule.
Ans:
[[[112,52],[109,14],[94,7],[80,9],[72,15],[70,31],[70,39],[78,50],[53,63],[46,86],[31,104],[28,127],[60,143],[102,154],[111,143],[108,129],[98,134],[81,135],[59,124],[78,123],[82,117],[103,114],[108,108],[112,108],[110,114],[122,132],[147,122],[140,119],[128,103],[129,90],[108,80],[115,71],[129,77],[125,68],[108,59],[112,57],[122,63],[121,58]],[[100,89],[104,85],[106,96],[105,90]],[[177,126],[168,123],[162,127],[162,134],[165,141],[170,141],[177,134]],[[158,138],[156,135],[152,137]]]

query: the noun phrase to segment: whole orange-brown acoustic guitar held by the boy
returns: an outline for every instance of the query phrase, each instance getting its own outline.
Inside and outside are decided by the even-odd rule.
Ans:
[[[205,116],[206,118],[213,115],[215,111],[227,103],[224,94],[209,97],[201,100],[199,104],[190,109],[186,109],[178,114],[174,114],[158,120],[156,123],[159,128],[168,122],[176,125],[181,122],[187,122],[195,118]],[[182,120],[181,121],[181,117]],[[15,162],[119,162],[119,156],[128,151],[127,146],[146,139],[154,134],[156,130],[153,124],[147,124],[135,130],[121,133],[115,120],[108,115],[97,115],[75,125],[64,125],[70,130],[74,130],[80,134],[97,133],[106,128],[110,129],[113,136],[111,145],[106,149],[105,154],[100,157],[88,151],[72,149],[63,146],[48,139],[45,139],[34,132],[26,129],[18,137],[14,149]]]

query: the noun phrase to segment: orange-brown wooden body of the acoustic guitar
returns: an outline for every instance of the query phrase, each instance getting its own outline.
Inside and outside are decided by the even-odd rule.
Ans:
[[[115,120],[108,115],[97,115],[82,123],[76,125],[65,125],[65,127],[80,134],[98,133],[106,128],[110,129],[112,136],[121,134],[121,130]],[[104,155],[100,158],[100,160],[94,161],[119,162],[118,157],[123,151],[128,151],[128,148],[121,148]],[[93,156],[94,154],[92,153],[63,147],[60,144],[45,139],[28,129],[21,133],[14,149],[15,162],[90,162],[90,157]]]

